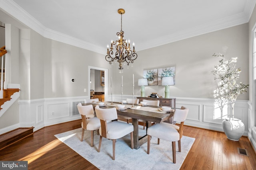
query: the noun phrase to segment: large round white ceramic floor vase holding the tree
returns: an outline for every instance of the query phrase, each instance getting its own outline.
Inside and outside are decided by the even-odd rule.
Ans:
[[[244,123],[240,119],[227,118],[222,121],[223,130],[232,141],[239,141],[244,134]]]

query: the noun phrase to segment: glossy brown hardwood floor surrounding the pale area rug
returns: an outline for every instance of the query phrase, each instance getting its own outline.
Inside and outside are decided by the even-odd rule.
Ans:
[[[28,160],[29,170],[97,169],[54,137],[79,127],[81,120],[44,127],[34,135],[0,150],[0,160]],[[183,135],[196,140],[180,169],[256,170],[256,155],[247,137],[234,142],[228,140],[224,133],[188,126],[184,127]],[[246,149],[249,156],[238,154],[237,147]]]

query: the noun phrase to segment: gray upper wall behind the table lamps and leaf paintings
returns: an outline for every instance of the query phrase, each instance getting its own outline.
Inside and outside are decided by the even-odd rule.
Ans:
[[[199,35],[174,43],[161,45],[151,49],[138,51],[138,59],[133,67],[124,68],[118,73],[115,64],[113,77],[116,87],[114,94],[121,94],[121,76],[124,76],[123,92],[132,95],[132,74],[135,78],[135,95],[140,95],[138,78],[142,78],[143,70],[176,67],[176,84],[170,86],[170,96],[186,98],[213,98],[217,83],[211,71],[218,64],[219,58],[214,53],[223,53],[226,58],[238,57],[237,66],[241,67],[240,82],[248,80],[248,23],[222,29],[212,33]],[[146,96],[157,92],[164,96],[164,86],[147,86]],[[249,93],[240,95],[238,99],[248,100]]]

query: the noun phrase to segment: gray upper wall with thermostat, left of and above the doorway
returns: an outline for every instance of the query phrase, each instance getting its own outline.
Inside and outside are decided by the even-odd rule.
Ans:
[[[104,55],[72,45],[47,39],[46,49],[44,98],[87,96],[90,93],[88,66],[109,67]],[[71,82],[71,78],[76,82]]]

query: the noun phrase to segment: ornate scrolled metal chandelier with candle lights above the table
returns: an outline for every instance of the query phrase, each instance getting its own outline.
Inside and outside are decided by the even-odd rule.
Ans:
[[[122,14],[124,14],[124,9],[118,9],[118,14],[121,14],[121,31],[116,33],[118,35],[118,40],[111,41],[111,47],[107,51],[107,55],[105,57],[106,61],[109,62],[109,64],[112,64],[114,60],[117,60],[119,63],[119,70],[121,71],[123,68],[123,63],[126,62],[127,65],[129,63],[133,63],[133,61],[137,58],[137,54],[135,53],[134,49],[134,43],[133,50],[130,49],[130,39],[127,41],[127,39],[124,39],[124,31],[122,30]],[[115,55],[113,52],[113,45],[116,45],[116,53]]]

